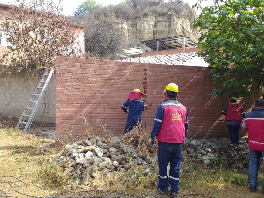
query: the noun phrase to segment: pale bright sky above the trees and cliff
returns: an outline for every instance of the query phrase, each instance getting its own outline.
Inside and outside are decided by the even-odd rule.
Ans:
[[[63,6],[63,15],[70,15],[72,16],[74,14],[75,9],[78,7],[78,5],[82,4],[85,0],[63,0],[61,5]],[[123,0],[96,0],[97,3],[102,4],[103,6],[106,5],[115,5]],[[198,0],[183,0],[184,2],[187,2],[190,6],[194,5],[195,3],[198,2]],[[5,4],[13,4],[15,0],[0,0],[0,3],[5,3]],[[213,3],[213,0],[206,0],[205,2],[202,2],[202,6],[208,6]],[[196,10],[196,8],[195,8]],[[196,10],[196,12],[199,14],[200,11]]]

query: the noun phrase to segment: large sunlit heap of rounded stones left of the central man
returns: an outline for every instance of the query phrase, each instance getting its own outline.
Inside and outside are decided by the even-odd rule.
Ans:
[[[100,140],[99,137],[90,136],[66,145],[62,153],[50,157],[52,163],[68,165],[64,173],[69,174],[75,185],[88,184],[97,171],[111,176],[113,171],[131,173],[132,166],[143,167],[142,175],[147,176],[150,164],[157,162],[157,156],[151,158],[147,154],[139,154],[138,147],[125,145],[117,137]]]

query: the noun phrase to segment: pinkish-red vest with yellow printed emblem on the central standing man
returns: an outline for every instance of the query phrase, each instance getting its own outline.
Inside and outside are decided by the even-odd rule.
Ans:
[[[186,107],[179,102],[173,103],[171,100],[161,104],[164,107],[164,117],[157,141],[182,144],[185,139]]]

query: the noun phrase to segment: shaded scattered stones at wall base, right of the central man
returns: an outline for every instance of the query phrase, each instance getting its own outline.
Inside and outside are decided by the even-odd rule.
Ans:
[[[212,142],[215,142],[215,140],[212,140]],[[183,153],[188,157],[189,160],[198,161],[206,165],[210,165],[210,157],[215,153],[218,153],[218,156],[221,154],[219,157],[221,157],[223,160],[234,161],[235,166],[237,166],[239,169],[244,168],[242,162],[249,158],[248,144],[245,143],[245,141],[239,145],[233,145],[230,143],[219,144],[219,142],[212,142],[205,140],[196,141],[191,138],[186,139]]]

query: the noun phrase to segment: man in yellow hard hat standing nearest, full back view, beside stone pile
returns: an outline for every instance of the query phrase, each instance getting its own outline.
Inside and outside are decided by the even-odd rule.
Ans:
[[[158,141],[159,183],[158,191],[162,196],[168,195],[171,185],[172,197],[178,197],[179,177],[182,157],[182,144],[187,136],[188,109],[177,101],[178,86],[170,83],[164,89],[164,101],[157,107],[149,144],[153,148]],[[170,163],[169,177],[167,166]],[[169,183],[169,184],[168,184]]]

